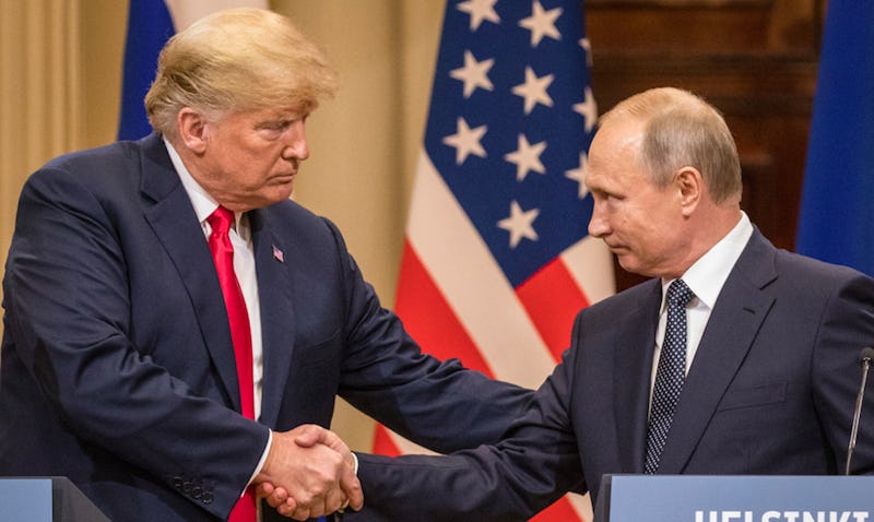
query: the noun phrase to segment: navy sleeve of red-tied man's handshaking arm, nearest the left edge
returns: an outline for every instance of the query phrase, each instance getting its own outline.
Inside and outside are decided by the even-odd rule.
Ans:
[[[32,176],[4,280],[8,336],[76,437],[168,487],[198,481],[213,500],[197,503],[225,517],[261,456],[268,429],[197,396],[133,345],[119,234],[74,176],[56,169]]]

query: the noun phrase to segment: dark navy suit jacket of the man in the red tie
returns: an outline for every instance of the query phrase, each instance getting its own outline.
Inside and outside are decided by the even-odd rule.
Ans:
[[[248,216],[260,424],[238,413],[215,269],[161,137],[27,180],[3,281],[0,475],[68,476],[113,520],[218,520],[268,427],[328,426],[335,394],[438,451],[497,440],[527,404],[423,356],[329,221],[292,201]]]

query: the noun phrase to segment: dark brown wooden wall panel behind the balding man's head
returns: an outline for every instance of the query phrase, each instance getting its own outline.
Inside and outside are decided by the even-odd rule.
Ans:
[[[656,86],[704,96],[737,142],[744,210],[792,249],[824,12],[825,0],[587,0],[600,111]],[[641,280],[616,264],[618,289]]]

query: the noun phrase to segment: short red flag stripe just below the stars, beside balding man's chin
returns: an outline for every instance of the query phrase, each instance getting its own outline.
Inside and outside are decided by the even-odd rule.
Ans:
[[[519,285],[516,295],[555,360],[560,360],[562,353],[570,342],[574,317],[581,308],[589,306],[589,300],[565,263],[560,258],[550,261]]]

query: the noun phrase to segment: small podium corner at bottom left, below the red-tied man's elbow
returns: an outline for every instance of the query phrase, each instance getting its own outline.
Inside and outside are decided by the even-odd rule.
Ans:
[[[0,478],[0,522],[110,522],[66,477]]]

